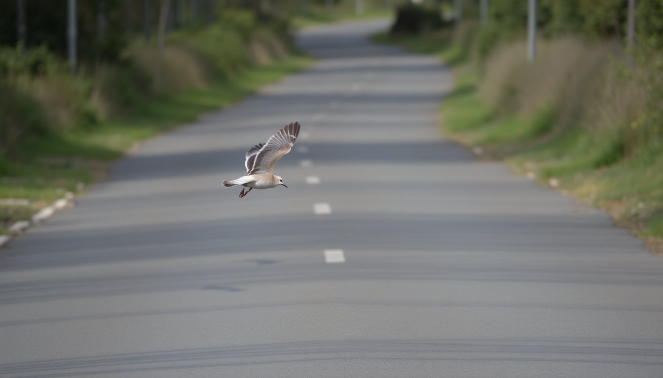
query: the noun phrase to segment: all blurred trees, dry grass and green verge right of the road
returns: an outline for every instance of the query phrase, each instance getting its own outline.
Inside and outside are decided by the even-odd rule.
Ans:
[[[603,207],[663,250],[663,1],[636,2],[633,43],[629,0],[537,3],[534,62],[524,0],[487,0],[483,22],[479,0],[462,1],[461,19],[455,1],[402,5],[391,36],[376,38],[455,67],[442,103],[451,138]]]

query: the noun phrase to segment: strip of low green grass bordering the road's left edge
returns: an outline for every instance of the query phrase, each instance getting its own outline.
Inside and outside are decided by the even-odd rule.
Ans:
[[[232,79],[210,83],[206,89],[160,95],[123,118],[103,121],[90,130],[32,140],[22,148],[21,163],[11,164],[11,174],[0,181],[0,198],[29,199],[31,203],[28,207],[1,207],[0,233],[66,191],[76,192],[78,183],[88,184],[103,177],[106,165],[137,142],[236,103],[310,63],[305,56],[292,56],[249,68]]]

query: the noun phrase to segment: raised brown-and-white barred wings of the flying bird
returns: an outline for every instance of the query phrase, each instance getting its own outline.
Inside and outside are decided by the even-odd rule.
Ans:
[[[251,157],[253,160],[253,165],[251,170],[247,173],[252,175],[253,173],[272,173],[274,169],[274,164],[278,162],[282,156],[290,152],[290,148],[294,144],[294,141],[297,140],[297,135],[299,134],[299,122],[294,122],[284,126],[272,135],[265,146],[263,146],[257,154]],[[254,148],[256,148],[255,146]],[[251,148],[251,152],[254,148]],[[249,154],[247,152],[247,156]],[[247,164],[249,163],[249,158],[247,158]],[[248,166],[248,165],[247,165]]]

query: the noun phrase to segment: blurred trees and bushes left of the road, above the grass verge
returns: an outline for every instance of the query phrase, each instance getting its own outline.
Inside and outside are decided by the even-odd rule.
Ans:
[[[19,31],[21,3],[25,40]],[[66,61],[68,1],[0,0],[0,96],[12,99],[0,103],[0,174],[17,173],[11,163],[32,158],[31,140],[91,130],[164,94],[203,89],[245,68],[292,56],[293,21],[386,15],[392,5],[383,0],[361,1],[361,9],[350,0],[76,3],[78,70],[72,73]],[[166,46],[160,51],[164,4]]]

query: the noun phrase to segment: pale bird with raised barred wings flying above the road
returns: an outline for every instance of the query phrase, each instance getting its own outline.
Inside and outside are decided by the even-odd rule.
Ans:
[[[265,144],[256,144],[247,151],[245,165],[247,167],[247,175],[239,177],[239,179],[231,181],[223,181],[224,187],[234,187],[243,185],[249,188],[244,192],[242,189],[239,192],[239,198],[249,194],[251,189],[269,189],[277,187],[278,185],[286,185],[283,183],[281,177],[274,175],[272,170],[274,164],[278,162],[285,154],[290,152],[290,148],[297,140],[299,134],[299,122],[288,124],[267,140]]]

